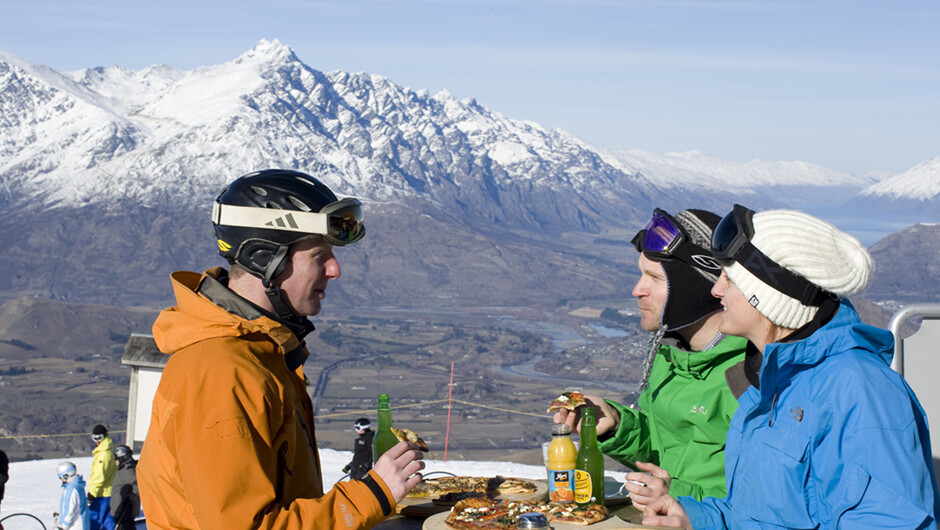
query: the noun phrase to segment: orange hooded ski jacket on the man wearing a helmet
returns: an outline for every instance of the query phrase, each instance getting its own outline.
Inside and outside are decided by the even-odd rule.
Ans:
[[[172,357],[137,466],[147,527],[377,525],[395,499],[374,471],[323,492],[303,368],[288,367],[292,353],[305,358],[303,343],[224,287],[224,274],[173,273],[177,305],[153,326]]]

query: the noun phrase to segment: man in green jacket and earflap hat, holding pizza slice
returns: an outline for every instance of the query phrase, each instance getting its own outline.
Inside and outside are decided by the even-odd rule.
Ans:
[[[709,249],[720,220],[704,210],[673,217],[656,209],[636,234],[633,296],[650,332],[639,407],[585,396],[595,408],[601,451],[640,471],[626,476],[640,509],[666,493],[726,493],[725,437],[738,402],[725,372],[743,362],[747,341],[718,331],[722,307],[711,288],[721,267]],[[561,410],[554,419],[576,429],[579,418]]]

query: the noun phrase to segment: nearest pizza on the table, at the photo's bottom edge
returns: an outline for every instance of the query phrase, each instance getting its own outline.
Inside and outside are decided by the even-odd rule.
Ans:
[[[610,517],[600,504],[578,506],[574,503],[537,501],[497,501],[493,499],[464,499],[451,509],[444,522],[458,530],[515,530],[519,516],[538,512],[549,523],[559,522],[588,526]]]

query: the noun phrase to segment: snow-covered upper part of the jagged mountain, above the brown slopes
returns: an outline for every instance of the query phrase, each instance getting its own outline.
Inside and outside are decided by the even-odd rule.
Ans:
[[[655,196],[649,181],[568,133],[447,92],[325,74],[277,41],[189,72],[60,74],[0,60],[0,174],[14,201],[198,206],[239,174],[292,167],[373,201],[597,230],[615,212],[608,197]]]

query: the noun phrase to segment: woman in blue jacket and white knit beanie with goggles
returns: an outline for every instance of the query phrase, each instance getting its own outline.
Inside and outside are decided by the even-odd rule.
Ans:
[[[661,497],[644,524],[934,528],[924,411],[890,369],[891,333],[863,324],[843,298],[869,283],[861,243],[802,212],[735,205],[712,252],[723,265],[712,289],[725,307],[719,329],[749,341],[728,494]]]

